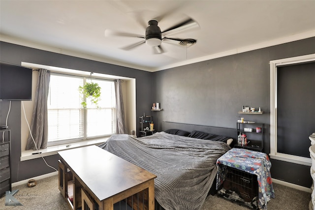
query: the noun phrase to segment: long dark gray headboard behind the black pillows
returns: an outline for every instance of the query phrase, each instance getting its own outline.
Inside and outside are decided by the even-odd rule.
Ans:
[[[213,127],[213,126],[206,126],[206,125],[195,125],[195,124],[186,124],[186,123],[178,123],[178,122],[162,122],[162,131],[167,129],[179,129],[184,131],[202,131],[205,133],[211,133],[221,136],[226,136],[232,138],[236,141],[237,138],[237,130],[236,128],[224,128],[224,127]]]

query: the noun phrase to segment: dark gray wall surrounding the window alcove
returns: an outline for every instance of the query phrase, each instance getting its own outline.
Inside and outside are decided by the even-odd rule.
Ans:
[[[95,73],[104,73],[136,79],[136,116],[143,112],[149,113],[151,107],[151,81],[152,73],[132,68],[127,68],[108,63],[66,56],[58,53],[47,52],[30,47],[0,42],[0,60],[21,65],[21,62],[30,62],[43,65],[57,66]],[[9,101],[0,102],[0,124],[5,124],[9,109]],[[134,119],[137,124],[137,119]],[[12,150],[12,182],[26,180],[32,177],[54,172],[46,166],[41,158],[20,161],[21,156],[21,102],[12,101],[8,118],[11,128]],[[137,125],[138,126],[138,125]],[[58,155],[45,157],[48,164],[58,167]]]

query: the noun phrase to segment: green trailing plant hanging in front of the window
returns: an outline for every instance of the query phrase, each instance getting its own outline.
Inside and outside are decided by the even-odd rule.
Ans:
[[[96,108],[99,108],[98,101],[100,100],[99,99],[100,87],[98,86],[97,83],[93,83],[93,82],[85,83],[83,87],[79,86],[79,91],[83,95],[82,103],[81,103],[83,107],[87,106],[87,102],[86,100],[84,100],[84,97],[86,97],[86,98],[89,98],[93,104],[95,104]]]

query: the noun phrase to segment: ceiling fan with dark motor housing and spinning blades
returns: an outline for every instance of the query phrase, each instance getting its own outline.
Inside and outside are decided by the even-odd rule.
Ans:
[[[194,28],[199,28],[199,25],[192,20],[191,18],[173,26],[170,27],[164,31],[161,31],[160,28],[158,27],[158,21],[153,19],[148,22],[148,27],[146,28],[145,31],[145,36],[143,35],[138,35],[138,34],[131,34],[131,33],[126,33],[126,32],[119,32],[119,31],[114,31],[114,30],[105,30],[105,36],[111,36],[111,35],[116,35],[116,36],[128,36],[128,37],[138,37],[142,38],[143,40],[140,42],[133,43],[131,45],[128,45],[126,47],[123,47],[122,49],[124,50],[131,50],[141,44],[146,43],[148,46],[153,47],[154,53],[155,54],[161,54],[164,53],[163,48],[161,47],[162,42],[170,43],[170,44],[176,44],[180,46],[186,46],[189,47],[193,44],[196,43],[197,40],[195,39],[178,39],[178,38],[171,38],[168,37],[168,35],[182,32],[184,30],[190,30]]]

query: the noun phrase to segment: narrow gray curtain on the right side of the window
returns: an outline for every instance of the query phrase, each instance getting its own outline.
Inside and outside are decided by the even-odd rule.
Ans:
[[[117,129],[116,134],[126,134],[125,111],[122,93],[122,80],[115,81]]]

